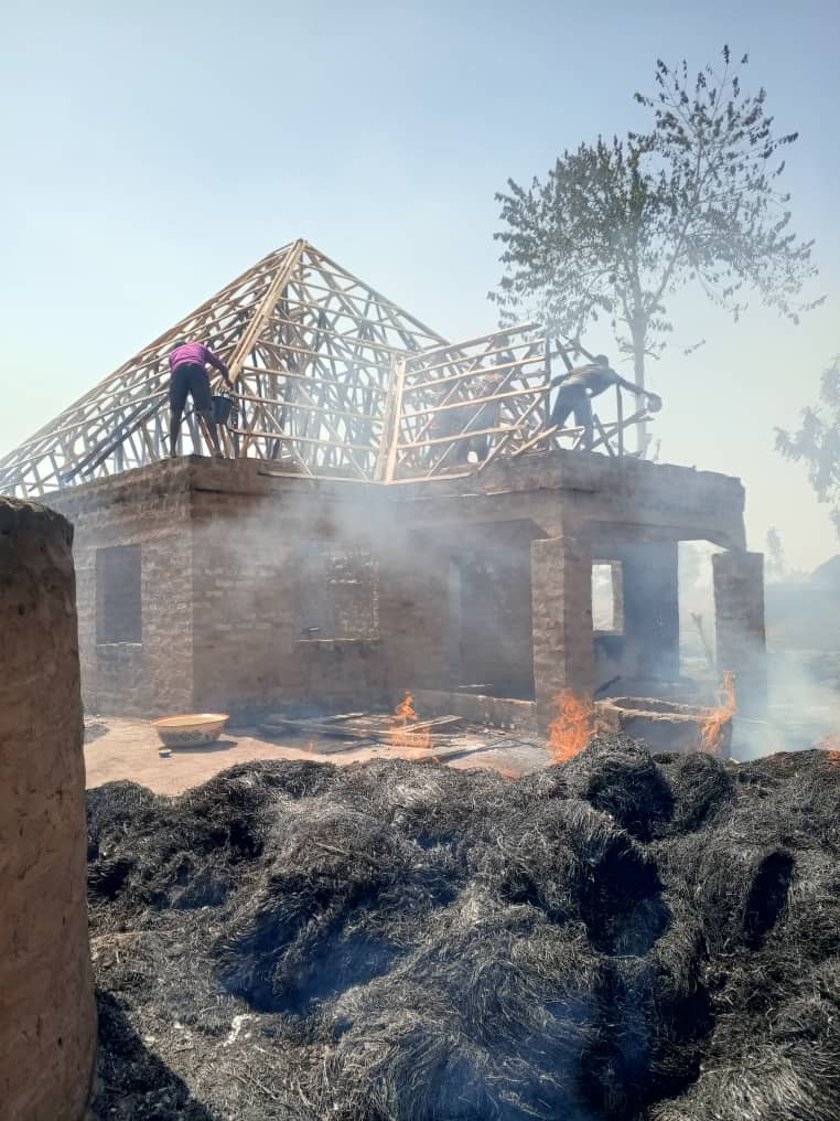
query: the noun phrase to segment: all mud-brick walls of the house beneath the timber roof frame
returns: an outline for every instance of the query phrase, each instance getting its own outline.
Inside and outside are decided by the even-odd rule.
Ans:
[[[404,487],[193,457],[56,504],[77,524],[86,703],[142,715],[370,707],[474,684],[544,701],[652,661],[669,676],[675,541],[744,535],[737,480],[562,452]],[[97,550],[114,546],[141,549],[140,641],[97,629]],[[597,664],[592,557],[624,560],[629,605]]]

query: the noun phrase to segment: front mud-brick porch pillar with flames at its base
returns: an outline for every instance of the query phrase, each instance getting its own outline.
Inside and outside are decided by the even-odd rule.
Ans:
[[[531,543],[534,694],[539,719],[554,715],[560,689],[595,688],[592,555],[575,537]]]

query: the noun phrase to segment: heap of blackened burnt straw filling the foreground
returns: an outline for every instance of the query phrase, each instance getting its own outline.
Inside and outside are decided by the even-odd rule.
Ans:
[[[87,796],[102,1121],[834,1121],[840,766],[251,763]]]

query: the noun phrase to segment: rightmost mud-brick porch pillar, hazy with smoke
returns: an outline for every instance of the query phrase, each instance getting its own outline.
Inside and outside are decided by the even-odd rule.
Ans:
[[[760,715],[767,707],[764,555],[716,553],[711,564],[718,670],[736,675],[738,711]]]

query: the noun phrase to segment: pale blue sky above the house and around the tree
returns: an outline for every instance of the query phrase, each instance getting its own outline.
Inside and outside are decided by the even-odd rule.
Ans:
[[[812,567],[840,548],[773,451],[840,351],[840,8],[619,2],[74,0],[4,9],[0,45],[0,453],[228,279],[305,237],[444,334],[495,325],[494,192],[638,120],[657,56],[748,52],[825,306],[737,327],[699,297],[651,372],[662,458],[740,475]],[[609,337],[590,335],[610,352]]]

